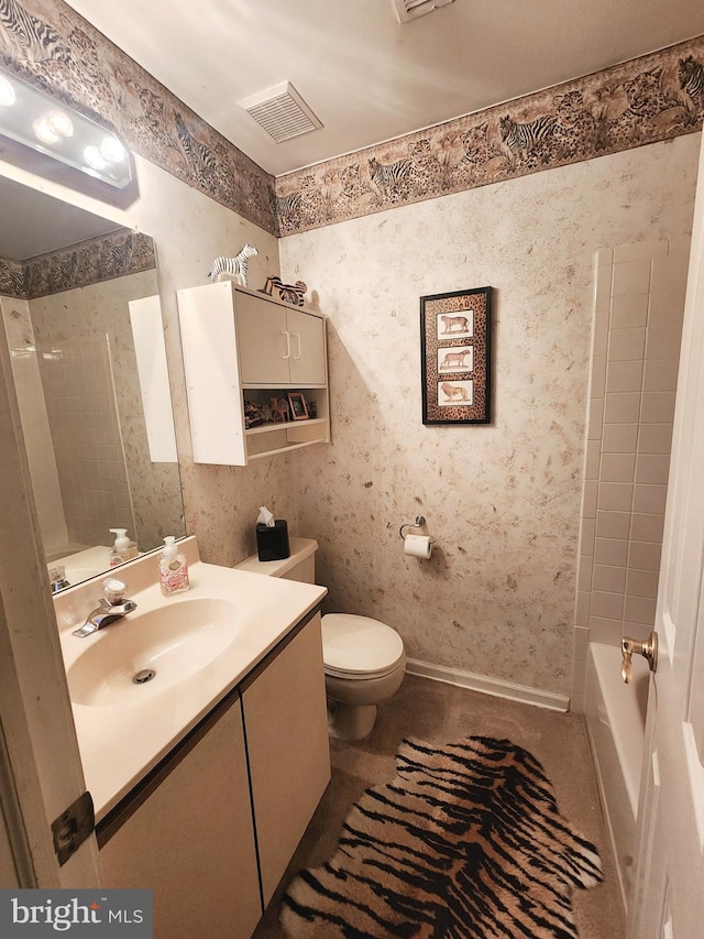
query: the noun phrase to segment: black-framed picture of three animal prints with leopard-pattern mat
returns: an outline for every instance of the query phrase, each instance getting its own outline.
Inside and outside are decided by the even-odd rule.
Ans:
[[[491,424],[492,288],[420,297],[424,424]]]

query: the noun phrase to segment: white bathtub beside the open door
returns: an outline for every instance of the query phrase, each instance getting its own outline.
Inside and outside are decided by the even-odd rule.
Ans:
[[[634,677],[620,677],[620,648],[590,643],[584,714],[606,828],[624,907],[634,871],[638,793],[644,756],[649,669],[634,658]]]

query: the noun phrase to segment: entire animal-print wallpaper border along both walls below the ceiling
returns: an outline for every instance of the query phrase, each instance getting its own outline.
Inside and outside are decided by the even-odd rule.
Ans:
[[[284,237],[701,130],[704,36],[274,177],[63,0],[0,0],[0,65]]]

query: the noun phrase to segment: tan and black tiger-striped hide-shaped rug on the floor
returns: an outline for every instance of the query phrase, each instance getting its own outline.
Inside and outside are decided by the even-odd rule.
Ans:
[[[289,886],[288,936],[576,939],[571,893],[602,880],[601,862],[530,753],[405,740],[396,765],[352,808],[333,859]]]

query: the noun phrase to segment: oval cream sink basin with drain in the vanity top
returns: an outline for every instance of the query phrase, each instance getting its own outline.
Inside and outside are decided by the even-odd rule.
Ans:
[[[86,648],[66,673],[72,701],[129,705],[143,700],[148,689],[193,676],[234,642],[238,613],[228,600],[168,600],[143,614],[138,609],[91,636],[73,636]]]

